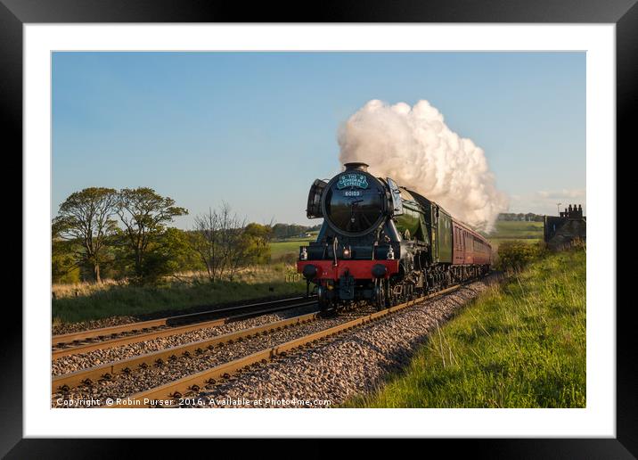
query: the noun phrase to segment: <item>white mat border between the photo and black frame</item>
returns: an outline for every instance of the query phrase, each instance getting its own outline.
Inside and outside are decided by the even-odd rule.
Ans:
[[[24,436],[614,437],[615,26],[25,25]],[[52,50],[586,50],[585,409],[53,410],[50,408]],[[524,110],[524,108],[521,108]],[[611,242],[614,242],[612,245]],[[595,280],[595,283],[593,282]]]

